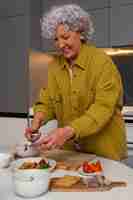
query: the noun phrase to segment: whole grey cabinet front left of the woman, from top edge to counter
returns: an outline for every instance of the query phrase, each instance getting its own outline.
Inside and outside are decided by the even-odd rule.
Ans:
[[[28,112],[29,49],[41,46],[40,2],[0,1],[0,112]]]

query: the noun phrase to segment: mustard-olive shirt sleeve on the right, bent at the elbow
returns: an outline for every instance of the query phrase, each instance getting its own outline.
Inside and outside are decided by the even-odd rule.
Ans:
[[[97,76],[94,103],[79,118],[70,122],[75,138],[98,133],[111,120],[122,99],[120,74],[111,59],[106,59]],[[118,108],[119,109],[119,108]]]

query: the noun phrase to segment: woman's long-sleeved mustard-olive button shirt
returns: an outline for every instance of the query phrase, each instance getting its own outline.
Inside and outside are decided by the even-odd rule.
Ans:
[[[111,58],[94,46],[82,44],[69,69],[63,56],[55,56],[48,70],[48,87],[41,90],[34,112],[44,112],[45,121],[56,118],[59,127],[73,127],[82,151],[115,160],[125,158],[123,88]],[[64,148],[73,149],[73,141]]]

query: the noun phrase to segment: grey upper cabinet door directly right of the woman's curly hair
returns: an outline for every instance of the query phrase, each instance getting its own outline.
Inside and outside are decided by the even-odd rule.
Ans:
[[[91,11],[95,33],[93,41],[98,47],[109,46],[109,8]]]

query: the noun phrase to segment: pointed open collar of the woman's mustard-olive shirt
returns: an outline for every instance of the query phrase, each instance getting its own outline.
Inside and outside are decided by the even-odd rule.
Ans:
[[[75,60],[75,65],[81,68],[82,70],[85,70],[86,68],[86,49],[87,49],[87,44],[82,43],[80,47],[80,53]],[[63,56],[61,56],[61,68],[64,69],[68,66],[69,64],[67,60]]]

